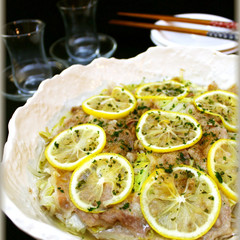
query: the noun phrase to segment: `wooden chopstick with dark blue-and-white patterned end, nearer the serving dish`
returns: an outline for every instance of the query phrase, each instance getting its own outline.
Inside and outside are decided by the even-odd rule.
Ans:
[[[121,25],[121,26],[129,26],[129,27],[197,34],[202,36],[229,39],[234,41],[238,40],[237,33],[232,33],[232,32],[214,32],[214,31],[207,31],[202,29],[182,28],[182,27],[176,27],[176,26],[164,26],[164,25],[156,25],[152,23],[133,22],[133,21],[126,21],[126,20],[118,20],[118,19],[112,19],[109,21],[109,23],[115,24],[115,25]]]

